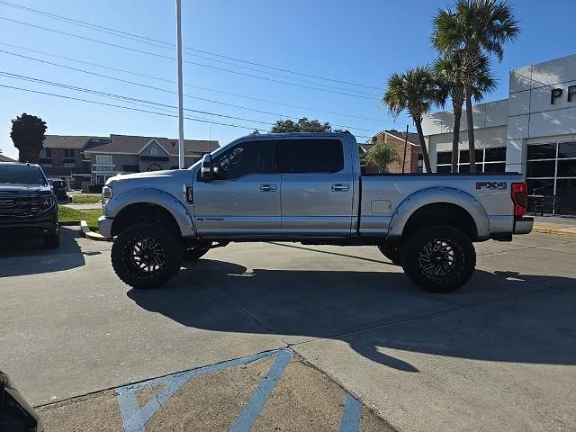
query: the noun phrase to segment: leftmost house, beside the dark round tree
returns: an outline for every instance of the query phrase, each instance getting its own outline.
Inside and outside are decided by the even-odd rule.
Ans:
[[[68,189],[80,188],[91,180],[90,160],[83,151],[94,145],[108,142],[108,138],[46,135],[40,150],[40,166],[49,180],[65,180]]]

